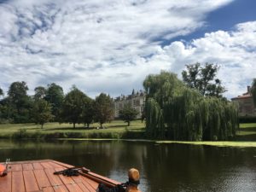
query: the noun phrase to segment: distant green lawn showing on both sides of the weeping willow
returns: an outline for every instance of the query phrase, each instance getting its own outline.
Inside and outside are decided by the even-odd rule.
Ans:
[[[135,138],[143,139],[143,131],[145,131],[145,123],[141,120],[131,121],[131,125],[122,120],[113,120],[110,123],[103,124],[104,129],[97,129],[99,124],[90,125],[87,129],[84,125],[76,125],[73,128],[72,124],[47,123],[44,129],[41,125],[35,124],[6,124],[0,125],[0,138],[10,138],[20,130],[26,130],[28,138],[42,138],[48,135],[47,138],[63,137],[63,138]],[[129,135],[127,136],[127,132]],[[125,135],[126,134],[126,135]],[[19,136],[18,136],[19,137]],[[26,137],[26,136],[25,136]],[[241,124],[239,131],[236,132],[235,141],[256,141],[256,123]]]

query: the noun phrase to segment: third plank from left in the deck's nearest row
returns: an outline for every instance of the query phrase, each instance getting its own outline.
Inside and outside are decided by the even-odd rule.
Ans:
[[[39,190],[37,179],[32,170],[23,171],[26,192]]]

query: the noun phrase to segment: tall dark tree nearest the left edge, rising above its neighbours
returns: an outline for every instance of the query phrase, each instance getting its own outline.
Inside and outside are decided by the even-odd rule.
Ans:
[[[17,81],[9,86],[9,108],[12,108],[11,116],[15,123],[30,122],[32,98],[27,96],[27,90],[28,87],[24,81]]]

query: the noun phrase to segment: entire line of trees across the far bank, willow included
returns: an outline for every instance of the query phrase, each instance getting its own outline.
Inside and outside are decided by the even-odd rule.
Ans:
[[[190,64],[177,74],[161,72],[148,75],[143,86],[146,92],[143,118],[146,134],[150,138],[173,140],[227,140],[236,135],[238,108],[229,102],[226,91],[217,79],[218,66],[206,63]],[[256,101],[256,80],[253,79],[252,95]],[[58,84],[35,88],[34,96],[27,96],[26,82],[14,82],[3,97],[0,89],[0,123],[35,122],[44,125],[48,121],[73,124],[98,122],[101,127],[113,119],[113,99],[101,93],[96,99],[76,86],[64,95]],[[256,102],[255,102],[256,103]],[[137,116],[135,109],[125,106],[119,112],[120,119],[130,125]]]

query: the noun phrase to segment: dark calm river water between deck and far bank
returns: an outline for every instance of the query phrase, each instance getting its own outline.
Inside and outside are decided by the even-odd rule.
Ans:
[[[0,161],[52,159],[120,182],[136,167],[143,192],[256,191],[256,148],[120,141],[0,140]]]

